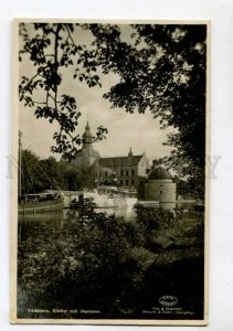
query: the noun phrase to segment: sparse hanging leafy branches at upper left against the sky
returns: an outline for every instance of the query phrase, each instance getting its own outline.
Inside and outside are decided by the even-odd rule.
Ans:
[[[34,65],[30,77],[21,77],[20,102],[33,108],[36,118],[59,124],[60,130],[53,135],[56,145],[51,150],[68,160],[83,140],[75,134],[82,115],[76,99],[61,94],[65,68],[72,66],[73,78],[85,82],[89,87],[100,85],[95,67],[96,50],[75,43],[72,34],[78,29],[82,30],[81,24],[66,23],[21,23],[19,28],[22,44],[19,60],[30,60]],[[106,128],[98,127],[93,141],[104,139],[106,134]]]

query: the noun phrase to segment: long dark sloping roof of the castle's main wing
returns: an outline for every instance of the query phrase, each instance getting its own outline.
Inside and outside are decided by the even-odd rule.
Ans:
[[[100,158],[99,166],[106,167],[106,168],[138,166],[141,158],[142,158],[142,154],[141,156],[131,156],[131,157]]]

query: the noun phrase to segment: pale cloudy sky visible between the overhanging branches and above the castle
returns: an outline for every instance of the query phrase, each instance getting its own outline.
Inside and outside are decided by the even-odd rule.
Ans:
[[[128,39],[128,26],[123,28],[125,39]],[[89,43],[89,35],[76,35],[76,39],[83,39]],[[27,58],[28,60],[28,58]],[[124,108],[112,109],[112,104],[103,98],[103,94],[108,92],[118,77],[114,74],[100,74],[102,87],[89,88],[85,83],[73,79],[74,68],[67,68],[63,74],[63,84],[61,94],[74,96],[77,102],[77,110],[82,113],[78,121],[77,131],[83,134],[85,126],[89,122],[91,131],[95,135],[97,127],[103,126],[108,129],[106,140],[94,143],[94,149],[102,157],[127,156],[129,149],[134,154],[141,154],[146,151],[149,160],[168,156],[170,147],[163,146],[167,135],[172,128],[161,130],[159,120],[152,117],[151,113],[127,114]],[[20,63],[20,76],[32,76],[34,67],[29,60]],[[43,98],[38,93],[36,98]],[[54,156],[57,160],[59,154],[53,154],[50,150],[53,145],[53,132],[57,126],[51,125],[46,119],[36,119],[34,108],[25,108],[23,103],[19,105],[20,130],[22,131],[22,145],[24,149],[30,149],[40,158]]]

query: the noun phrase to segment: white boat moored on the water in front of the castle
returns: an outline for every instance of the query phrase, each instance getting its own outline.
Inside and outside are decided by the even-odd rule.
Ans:
[[[136,204],[136,194],[133,191],[103,185],[93,191],[84,191],[84,199],[91,199],[98,209],[127,207]]]

